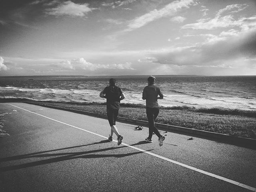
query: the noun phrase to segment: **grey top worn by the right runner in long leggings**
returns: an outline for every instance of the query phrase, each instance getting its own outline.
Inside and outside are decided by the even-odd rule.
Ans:
[[[146,99],[146,107],[149,107],[149,108],[159,107],[157,102],[158,95],[160,97],[164,97],[159,87],[155,85],[146,86],[142,93],[142,99]]]

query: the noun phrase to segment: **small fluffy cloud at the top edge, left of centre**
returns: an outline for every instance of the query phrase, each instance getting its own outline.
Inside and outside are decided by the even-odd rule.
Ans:
[[[46,14],[54,16],[80,16],[83,17],[95,8],[89,8],[89,4],[75,4],[72,1],[66,1],[58,4],[55,8],[46,9]]]

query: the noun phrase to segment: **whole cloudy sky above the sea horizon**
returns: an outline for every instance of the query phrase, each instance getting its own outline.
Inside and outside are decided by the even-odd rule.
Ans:
[[[0,76],[256,75],[255,0],[0,0]]]

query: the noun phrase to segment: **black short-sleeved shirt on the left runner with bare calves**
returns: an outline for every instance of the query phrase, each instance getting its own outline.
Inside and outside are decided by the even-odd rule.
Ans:
[[[120,109],[120,96],[122,89],[117,86],[107,86],[102,91],[107,98],[107,108]]]

